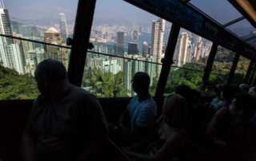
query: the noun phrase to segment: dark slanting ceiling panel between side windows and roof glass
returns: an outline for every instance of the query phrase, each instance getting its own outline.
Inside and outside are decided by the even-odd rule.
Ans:
[[[256,50],[242,38],[225,29],[221,24],[198,10],[190,3],[179,0],[124,0],[169,22],[173,22],[193,33],[217,42],[227,49],[255,59]],[[242,18],[240,18],[242,19]],[[238,19],[239,20],[239,19]],[[234,20],[234,21],[238,21]]]

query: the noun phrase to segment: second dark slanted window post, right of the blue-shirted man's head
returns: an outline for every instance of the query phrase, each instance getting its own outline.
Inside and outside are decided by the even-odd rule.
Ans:
[[[170,36],[168,39],[168,44],[166,46],[165,57],[162,61],[162,69],[159,76],[158,86],[155,92],[155,96],[161,98],[166,88],[166,81],[169,76],[170,66],[173,63],[174,50],[178,40],[178,33],[180,30],[180,26],[177,24],[172,24],[170,29]]]

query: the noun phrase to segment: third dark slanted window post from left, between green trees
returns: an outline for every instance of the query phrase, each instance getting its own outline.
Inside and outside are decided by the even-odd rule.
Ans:
[[[210,54],[208,57],[206,68],[205,68],[205,73],[202,77],[203,82],[208,81],[208,79],[210,77],[210,71],[214,64],[214,57],[216,56],[217,49],[218,49],[218,44],[216,42],[214,42],[214,44],[211,46]]]

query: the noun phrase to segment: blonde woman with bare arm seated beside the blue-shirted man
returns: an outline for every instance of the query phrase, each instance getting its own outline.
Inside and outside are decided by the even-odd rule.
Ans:
[[[147,154],[124,150],[136,160],[172,160],[179,158],[179,153],[186,145],[186,101],[178,95],[166,96],[162,106],[162,124],[158,128],[157,137]]]

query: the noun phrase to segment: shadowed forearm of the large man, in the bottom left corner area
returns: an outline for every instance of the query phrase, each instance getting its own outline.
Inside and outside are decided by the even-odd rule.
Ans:
[[[36,159],[36,152],[35,152],[35,141],[34,139],[26,134],[22,135],[22,156],[25,161],[35,161]]]

